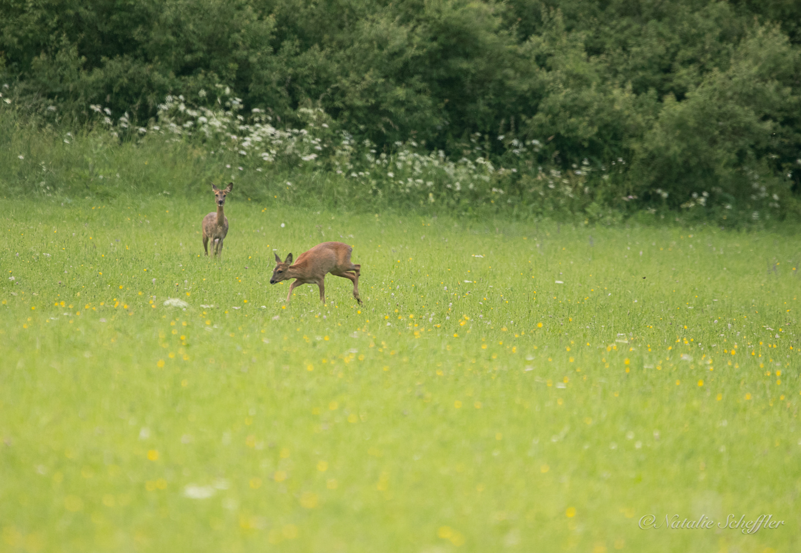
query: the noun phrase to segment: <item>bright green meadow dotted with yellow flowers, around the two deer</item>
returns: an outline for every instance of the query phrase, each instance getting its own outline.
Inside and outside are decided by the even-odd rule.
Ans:
[[[790,231],[232,194],[215,262],[212,204],[6,201],[2,551],[801,547]],[[328,305],[312,286],[284,305],[273,250],[326,240],[354,246],[364,306],[332,276]]]

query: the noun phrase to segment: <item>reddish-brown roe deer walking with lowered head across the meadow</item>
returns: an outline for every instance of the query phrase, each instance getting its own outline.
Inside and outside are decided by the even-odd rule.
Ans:
[[[320,301],[325,303],[325,284],[323,279],[328,273],[349,279],[353,283],[353,297],[361,303],[359,297],[360,265],[354,265],[350,260],[353,251],[351,246],[342,242],[323,242],[311,250],[300,254],[297,262],[292,264],[292,254],[284,262],[276,255],[276,268],[272,271],[270,284],[280,283],[282,280],[295,279],[289,287],[287,303],[292,298],[292,291],[301,284],[316,284],[320,287]]]

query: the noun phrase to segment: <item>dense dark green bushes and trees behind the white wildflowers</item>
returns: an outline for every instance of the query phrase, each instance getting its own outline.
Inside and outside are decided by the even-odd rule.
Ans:
[[[76,129],[99,108],[147,128],[168,95],[238,96],[276,128],[321,109],[376,154],[514,168],[503,188],[527,205],[580,166],[604,209],[801,194],[790,0],[2,0],[0,18],[4,99]]]

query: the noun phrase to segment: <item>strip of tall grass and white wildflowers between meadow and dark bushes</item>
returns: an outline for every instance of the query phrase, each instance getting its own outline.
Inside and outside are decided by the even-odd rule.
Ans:
[[[625,160],[593,166],[584,159],[562,169],[541,163],[548,146],[474,133],[460,144],[461,157],[431,151],[410,139],[378,150],[356,139],[320,108],[300,108],[300,125],[280,126],[253,108],[243,110],[229,87],[211,94],[167,96],[147,126],[123,115],[95,114],[79,130],[67,130],[58,114],[24,114],[14,100],[0,105],[0,188],[6,194],[73,198],[128,198],[154,194],[203,195],[209,183],[235,182],[237,196],[312,210],[443,210],[484,216],[571,218],[610,223],[637,213],[638,196],[622,191]],[[503,138],[498,141],[497,138]],[[490,156],[490,144],[501,153]],[[799,206],[783,186],[751,173],[749,196],[718,187],[691,192],[680,206],[684,218],[717,218],[727,226],[797,218]],[[624,183],[623,185],[621,183]],[[654,190],[649,218],[674,218],[670,193]],[[10,196],[6,195],[6,198]]]

